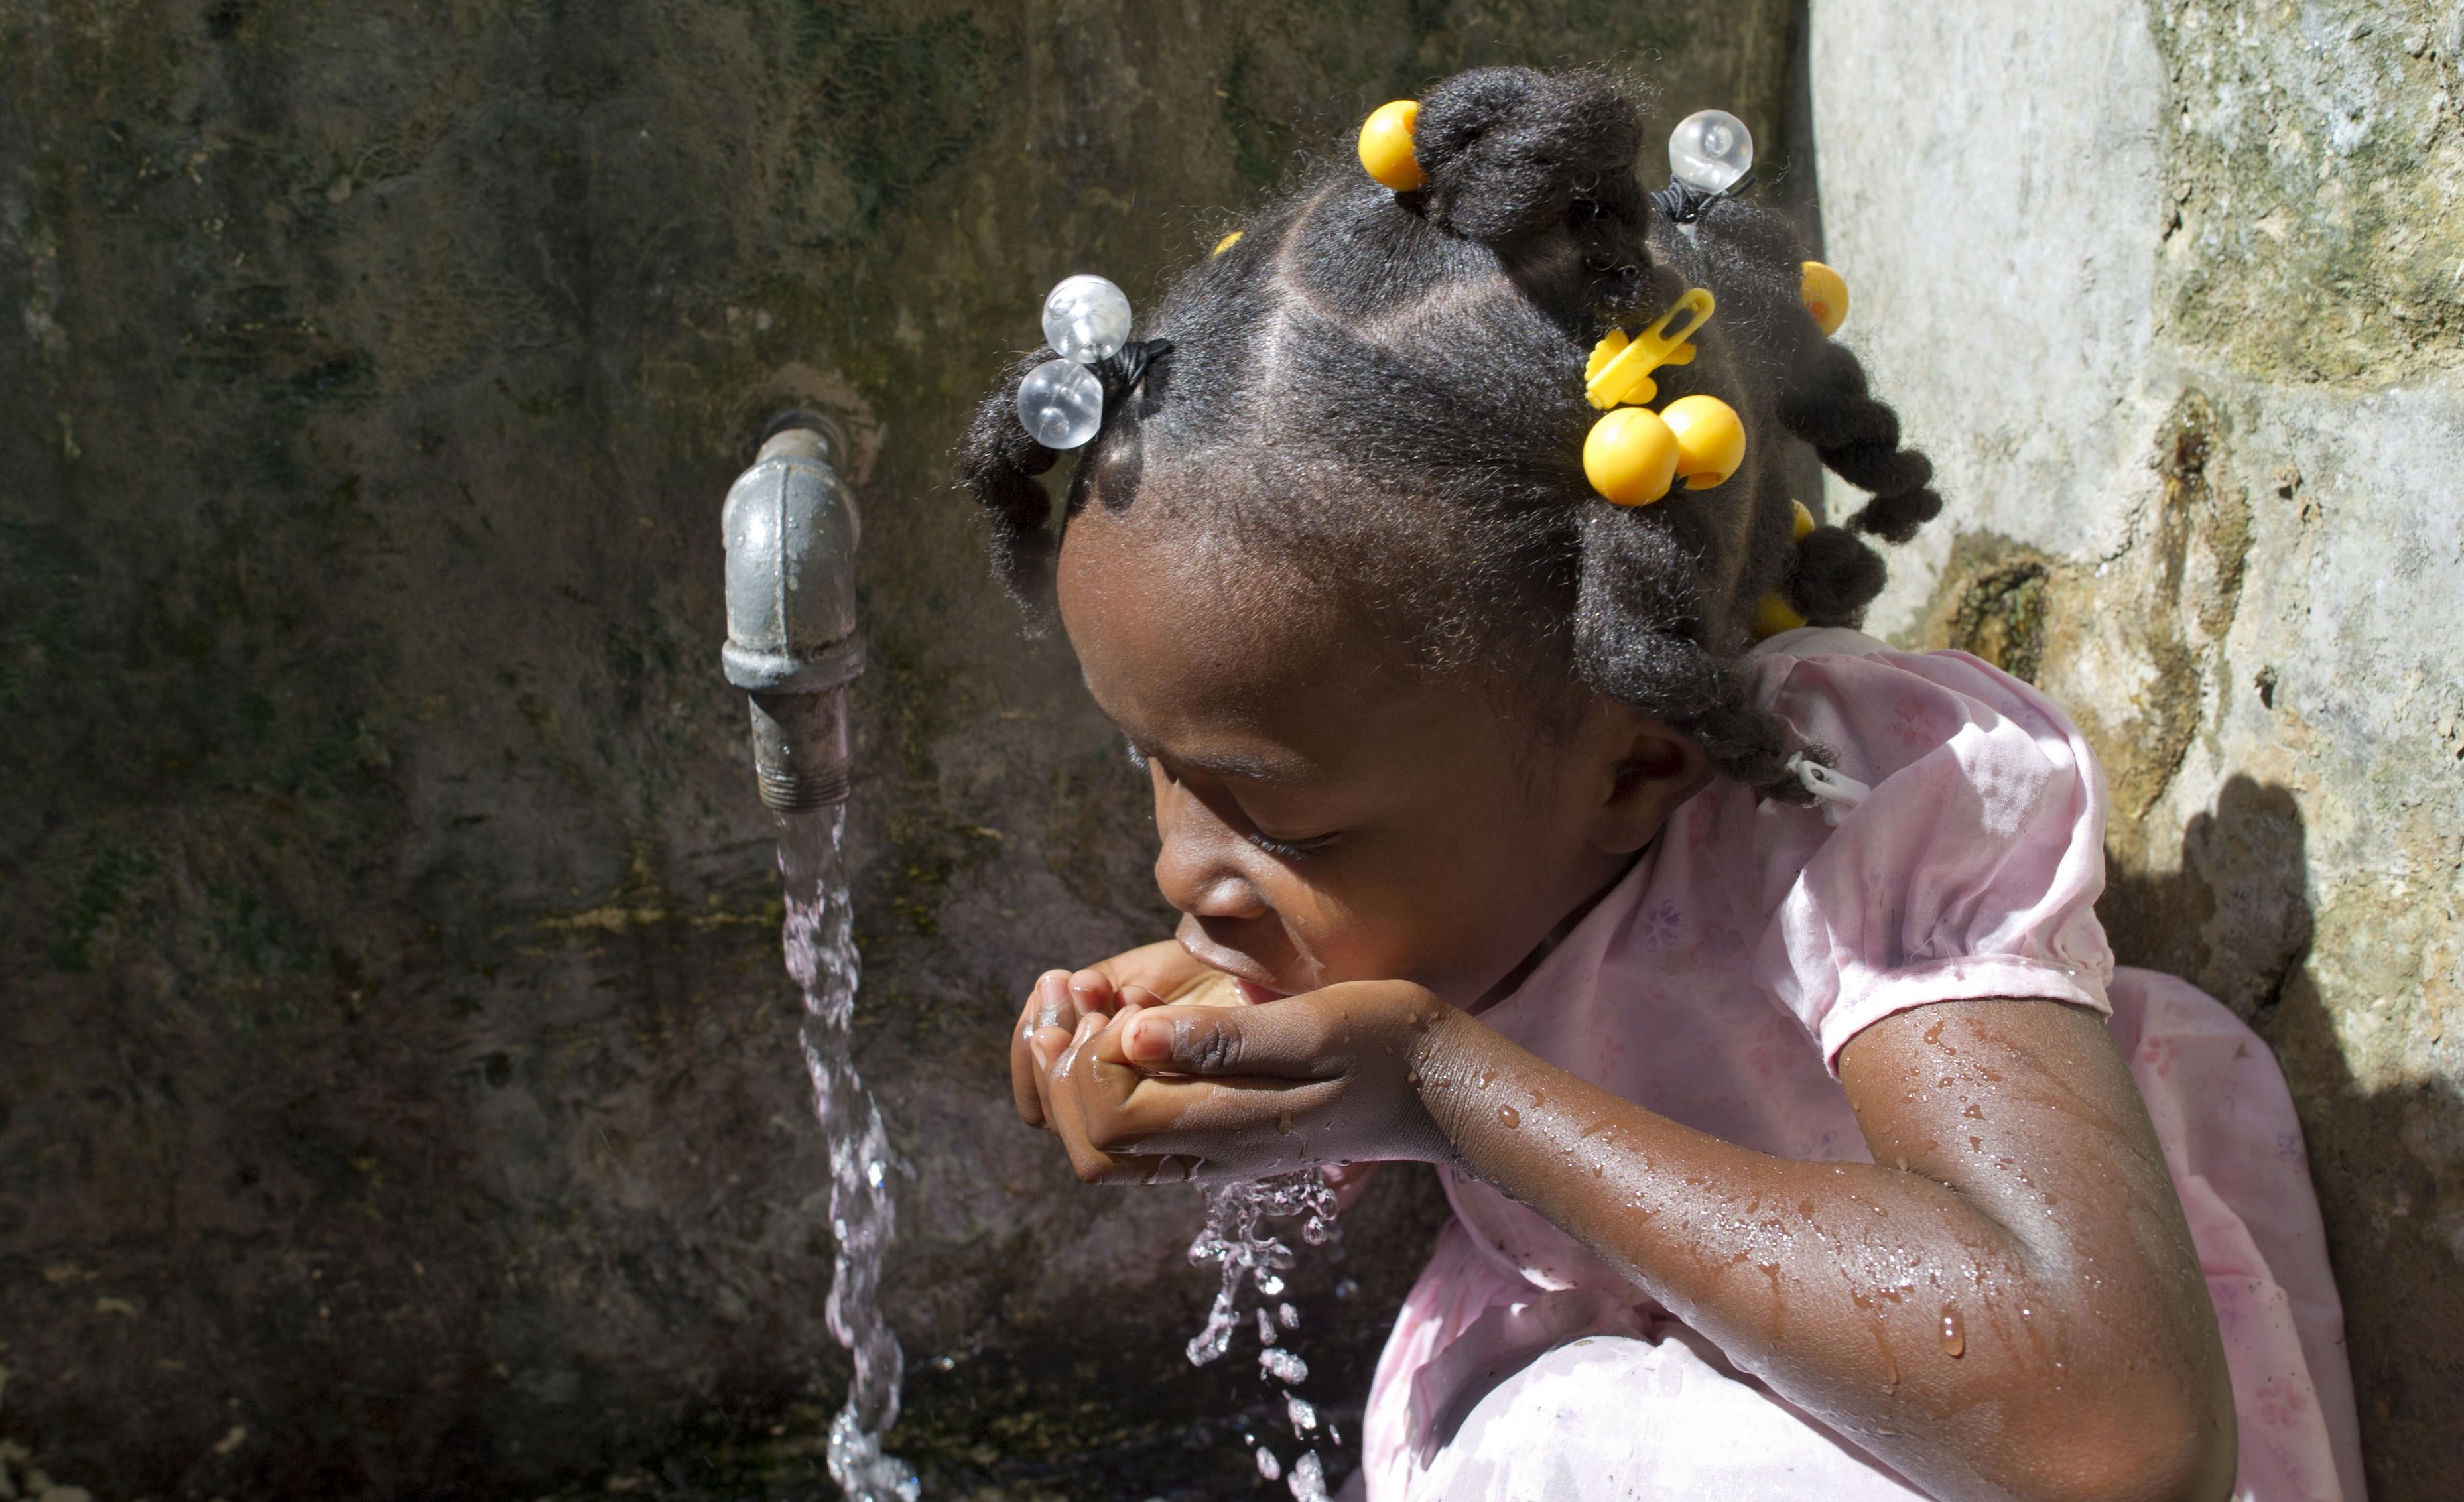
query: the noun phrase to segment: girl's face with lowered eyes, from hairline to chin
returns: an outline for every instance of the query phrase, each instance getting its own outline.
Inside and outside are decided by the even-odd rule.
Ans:
[[[1503,685],[1400,672],[1323,588],[1163,510],[1069,522],[1062,623],[1153,778],[1180,943],[1252,1000],[1412,980],[1476,1005],[1703,785],[1624,704],[1545,741]]]

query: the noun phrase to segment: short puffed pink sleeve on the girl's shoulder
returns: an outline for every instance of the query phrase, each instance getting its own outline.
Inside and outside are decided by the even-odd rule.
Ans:
[[[1838,1074],[1848,1039],[1929,1002],[2109,1014],[2104,778],[2070,717],[1966,653],[1826,653],[1848,633],[1791,635],[1752,660],[1759,697],[1873,788],[1838,827],[1779,803],[1757,815],[1754,978],[1823,1064]]]

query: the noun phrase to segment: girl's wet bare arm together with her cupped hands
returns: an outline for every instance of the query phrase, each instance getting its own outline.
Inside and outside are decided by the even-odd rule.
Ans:
[[[1030,1039],[1082,1177],[1446,1162],[1937,1497],[2215,1500],[2232,1485],[2208,1288],[2092,1012],[1942,1002],[1865,1029],[1841,1081],[1875,1162],[1850,1165],[1683,1128],[1412,985],[1230,1012],[1126,1000]]]

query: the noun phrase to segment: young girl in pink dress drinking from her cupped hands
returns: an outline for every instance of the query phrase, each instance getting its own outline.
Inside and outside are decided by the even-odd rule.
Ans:
[[[1439,1167],[1377,1502],[2358,1500],[2264,1044],[2114,968],[2055,704],[1848,630],[1855,532],[1939,500],[1791,231],[1646,195],[1599,74],[1461,74],[1407,148],[1402,192],[1308,170],[1099,367],[1060,539],[1015,377],[968,438],[1185,914],[1037,982],[1020,1113],[1089,1182]],[[1688,288],[1656,374],[1745,458],[1614,505],[1587,359]],[[1873,500],[1801,534],[1789,443]]]

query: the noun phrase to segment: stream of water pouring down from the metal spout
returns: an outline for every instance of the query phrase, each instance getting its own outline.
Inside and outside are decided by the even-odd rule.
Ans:
[[[855,1376],[848,1406],[830,1421],[830,1480],[848,1502],[917,1502],[914,1468],[882,1453],[899,1421],[904,1357],[882,1317],[882,1253],[897,1229],[890,1177],[897,1157],[882,1108],[855,1074],[855,911],[840,837],[845,808],[779,817],[779,874],[786,879],[786,973],[803,990],[803,1066],[813,1076],[813,1115],[830,1143],[830,1335],[848,1347]]]

